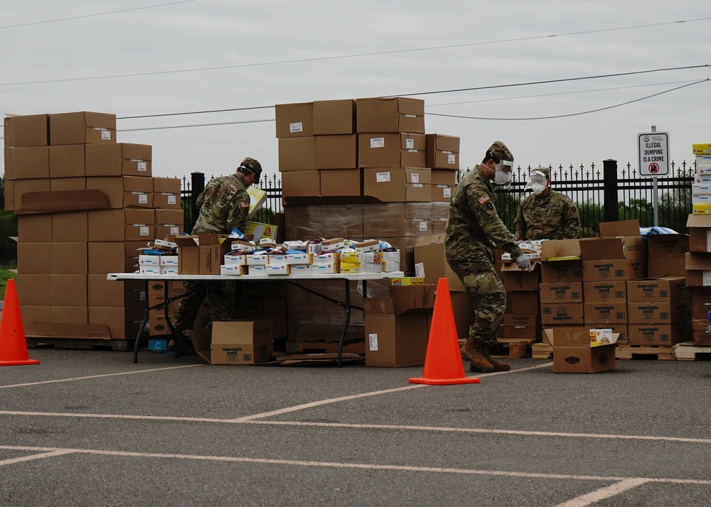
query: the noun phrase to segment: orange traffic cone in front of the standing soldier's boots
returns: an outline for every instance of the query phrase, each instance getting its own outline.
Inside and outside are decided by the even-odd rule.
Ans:
[[[464,364],[456,339],[454,310],[451,309],[449,283],[439,278],[434,298],[432,326],[429,328],[427,354],[424,356],[422,378],[410,378],[410,383],[444,386],[452,383],[479,383],[479,378],[464,376]]]

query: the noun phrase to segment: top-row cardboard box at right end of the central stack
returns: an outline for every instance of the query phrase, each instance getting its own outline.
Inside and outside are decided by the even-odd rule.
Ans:
[[[368,98],[356,102],[358,133],[424,134],[424,100],[409,97]]]

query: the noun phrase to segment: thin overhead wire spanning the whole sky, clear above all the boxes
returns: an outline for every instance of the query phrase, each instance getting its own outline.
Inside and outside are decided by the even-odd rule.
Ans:
[[[193,1],[193,0],[187,0],[187,1]],[[569,32],[569,33],[556,33],[556,34],[551,34],[551,35],[547,35],[547,36],[531,36],[531,37],[500,39],[500,40],[487,40],[487,41],[476,42],[476,43],[431,46],[429,48],[411,48],[411,49],[402,49],[402,50],[378,51],[378,52],[373,52],[373,53],[359,53],[359,54],[355,54],[355,55],[339,55],[339,56],[324,56],[324,57],[317,57],[317,58],[301,58],[298,60],[279,60],[276,62],[244,63],[244,64],[240,64],[240,65],[223,65],[220,67],[200,67],[200,68],[196,68],[196,69],[162,70],[162,71],[156,71],[156,72],[134,72],[132,74],[116,74],[116,75],[108,75],[108,76],[70,77],[70,78],[61,79],[61,80],[41,80],[41,81],[0,83],[0,86],[13,86],[13,85],[17,85],[17,84],[47,84],[47,83],[70,82],[70,81],[108,80],[108,79],[114,79],[117,77],[143,77],[143,76],[153,76],[153,75],[178,74],[178,73],[182,73],[182,72],[205,72],[208,70],[238,69],[238,68],[244,68],[244,67],[264,67],[264,66],[268,66],[268,65],[284,65],[284,64],[288,64],[288,63],[318,62],[318,61],[325,61],[325,60],[343,60],[346,58],[363,58],[366,56],[396,55],[396,54],[400,54],[400,53],[415,53],[418,51],[431,51],[431,50],[451,49],[451,48],[465,48],[465,47],[474,46],[474,45],[501,44],[501,43],[510,43],[510,42],[521,42],[521,41],[525,41],[525,40],[538,40],[538,39],[545,39],[545,38],[552,38],[552,37],[577,36],[577,35],[584,35],[584,34],[588,34],[588,33],[602,33],[602,32],[610,32],[610,31],[632,30],[632,29],[636,29],[636,28],[650,28],[653,26],[673,25],[673,24],[678,24],[678,23],[693,23],[695,21],[707,21],[709,19],[711,19],[711,17],[687,19],[687,20],[681,20],[681,21],[665,21],[663,23],[649,23],[646,25],[621,26],[621,27],[616,27],[616,28],[600,28],[599,30],[587,30],[587,31],[579,31],[579,32]]]

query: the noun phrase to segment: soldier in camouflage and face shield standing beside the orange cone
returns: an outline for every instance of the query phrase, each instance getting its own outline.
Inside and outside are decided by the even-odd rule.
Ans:
[[[509,252],[521,269],[530,259],[496,213],[493,186],[505,185],[513,170],[513,155],[501,141],[486,151],[482,163],[456,185],[449,205],[444,252],[449,266],[464,284],[474,305],[474,325],[461,347],[471,361],[470,371],[508,371],[510,366],[491,358],[496,334],[506,310],[506,289],[494,270],[494,245]]]

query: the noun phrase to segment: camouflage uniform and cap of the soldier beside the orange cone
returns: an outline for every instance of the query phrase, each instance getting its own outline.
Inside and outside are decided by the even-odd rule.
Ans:
[[[503,146],[503,143],[501,143]],[[492,148],[496,147],[496,143]],[[513,160],[508,148],[506,160]],[[496,150],[493,154],[499,156]],[[494,270],[493,245],[518,257],[523,251],[496,214],[493,186],[479,165],[461,179],[449,205],[444,253],[449,266],[464,283],[474,305],[469,340],[486,347],[496,345],[496,333],[506,310],[506,289]]]

